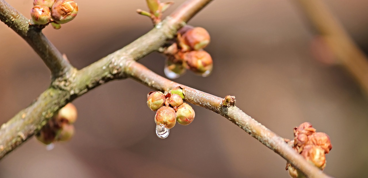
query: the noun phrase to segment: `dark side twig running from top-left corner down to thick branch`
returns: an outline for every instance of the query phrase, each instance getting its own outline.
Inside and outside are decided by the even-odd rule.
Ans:
[[[63,76],[72,69],[71,64],[56,47],[42,34],[41,30],[28,24],[28,19],[0,0],[0,20],[21,36],[49,67],[52,78]]]

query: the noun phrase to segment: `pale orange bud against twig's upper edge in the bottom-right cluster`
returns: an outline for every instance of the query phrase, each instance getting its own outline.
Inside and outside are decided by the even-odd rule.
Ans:
[[[325,150],[319,146],[308,145],[300,153],[307,161],[323,170],[326,167]]]

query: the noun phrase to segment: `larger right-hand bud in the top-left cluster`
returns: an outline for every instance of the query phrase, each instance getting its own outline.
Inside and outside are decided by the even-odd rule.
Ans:
[[[58,24],[73,20],[78,14],[78,6],[73,0],[56,0],[51,7],[51,17]]]

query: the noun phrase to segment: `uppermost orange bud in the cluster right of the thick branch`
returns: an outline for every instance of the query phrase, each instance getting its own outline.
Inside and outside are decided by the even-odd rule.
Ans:
[[[194,27],[186,31],[182,36],[178,35],[178,41],[183,51],[200,50],[210,42],[210,36],[206,29]]]

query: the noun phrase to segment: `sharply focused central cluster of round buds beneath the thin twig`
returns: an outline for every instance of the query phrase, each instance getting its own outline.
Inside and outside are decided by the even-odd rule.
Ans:
[[[151,91],[147,95],[147,105],[155,115],[156,125],[171,129],[176,122],[181,125],[190,124],[195,116],[193,108],[183,102],[184,94],[180,87],[163,94],[160,91]]]

